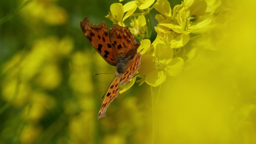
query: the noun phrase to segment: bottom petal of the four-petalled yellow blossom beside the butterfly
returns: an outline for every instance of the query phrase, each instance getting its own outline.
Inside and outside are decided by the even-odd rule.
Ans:
[[[165,71],[155,70],[152,73],[148,74],[146,77],[146,83],[151,86],[159,86],[166,79]]]

